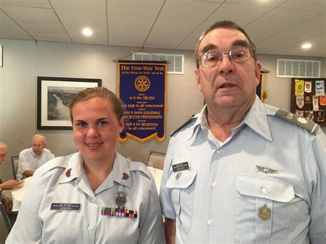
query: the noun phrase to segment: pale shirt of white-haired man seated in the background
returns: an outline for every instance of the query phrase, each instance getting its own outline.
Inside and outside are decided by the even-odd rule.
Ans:
[[[32,148],[27,148],[19,153],[17,179],[24,179],[23,175],[25,170],[35,171],[47,161],[54,159],[54,154],[47,148],[43,148],[40,155],[33,153]]]

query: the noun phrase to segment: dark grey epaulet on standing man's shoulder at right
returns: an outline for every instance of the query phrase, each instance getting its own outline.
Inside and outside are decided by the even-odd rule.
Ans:
[[[307,129],[308,131],[310,131],[310,133],[313,133],[316,135],[317,131],[320,129],[320,126],[318,124],[316,124],[315,122],[311,121],[311,120],[307,120],[301,116],[298,116],[294,113],[290,113],[287,111],[284,111],[282,109],[279,109],[276,113],[275,113],[276,117],[279,117],[283,120],[287,120],[289,122],[292,122],[298,126],[301,126],[305,129]]]

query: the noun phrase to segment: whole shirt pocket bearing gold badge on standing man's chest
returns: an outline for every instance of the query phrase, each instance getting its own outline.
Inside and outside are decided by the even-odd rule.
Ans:
[[[238,174],[236,188],[235,241],[269,243],[272,235],[273,243],[284,241],[293,186],[273,177]]]

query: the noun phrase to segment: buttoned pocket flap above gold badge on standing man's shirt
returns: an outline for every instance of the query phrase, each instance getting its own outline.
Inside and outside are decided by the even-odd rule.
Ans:
[[[272,177],[238,174],[236,188],[241,195],[261,197],[281,203],[294,199],[293,186]]]

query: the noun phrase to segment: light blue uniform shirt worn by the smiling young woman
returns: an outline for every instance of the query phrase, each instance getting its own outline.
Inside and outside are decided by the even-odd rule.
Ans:
[[[118,192],[137,218],[101,213],[114,208]],[[80,210],[50,210],[52,203],[78,203]],[[155,182],[142,163],[116,153],[107,179],[91,190],[83,157],[56,157],[33,175],[6,243],[165,243]]]

